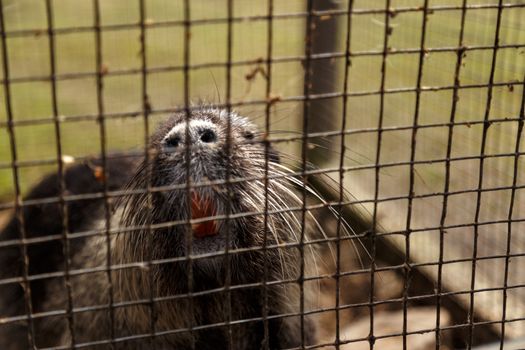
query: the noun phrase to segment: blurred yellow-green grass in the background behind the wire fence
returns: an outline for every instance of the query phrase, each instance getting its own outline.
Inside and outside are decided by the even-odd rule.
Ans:
[[[182,20],[182,1],[147,0],[148,23],[167,20]],[[469,4],[493,4],[494,1],[470,1]],[[35,35],[7,40],[11,78],[46,76],[50,72],[49,44],[42,33],[46,28],[44,2],[41,0],[11,0],[4,2],[5,27],[7,31],[36,29]],[[54,0],[53,15],[56,28],[93,25],[94,13],[91,1]],[[418,6],[419,0],[393,0],[392,7]],[[457,5],[456,1],[430,1],[430,6]],[[344,8],[345,2],[341,3]],[[382,8],[384,1],[355,1],[356,9]],[[225,18],[226,1],[191,1],[192,20]],[[235,16],[265,15],[266,1],[234,1]],[[275,13],[304,11],[304,0],[276,1]],[[464,45],[491,46],[495,33],[496,9],[478,9],[467,12]],[[382,49],[384,35],[382,14],[354,15],[352,18],[351,51],[378,51]],[[426,48],[455,47],[458,42],[461,11],[435,11],[429,15]],[[139,1],[101,1],[103,25],[138,23]],[[525,30],[520,19],[525,18],[525,9],[513,8],[503,11],[501,44],[524,44]],[[344,20],[344,19],[343,19]],[[389,47],[396,49],[418,48],[420,44],[422,13],[403,12],[391,20],[393,28]],[[346,28],[345,25],[342,27]],[[276,19],[274,21],[273,55],[275,58],[300,56],[304,51],[304,18]],[[267,23],[240,21],[233,27],[233,60],[257,60],[266,56]],[[102,55],[109,72],[122,69],[140,69],[139,28],[104,31]],[[227,27],[226,23],[199,24],[191,29],[191,64],[225,63]],[[337,38],[339,50],[344,49],[344,33]],[[523,79],[525,53],[523,48],[505,48],[498,51],[495,81],[514,82]],[[148,68],[182,66],[183,27],[160,26],[147,29],[146,55]],[[418,53],[390,55],[387,61],[386,88],[413,88],[416,85]],[[492,50],[468,51],[461,68],[462,84],[487,84],[490,73]],[[93,32],[69,33],[56,36],[57,74],[94,73],[95,35]],[[450,86],[456,54],[453,52],[430,52],[425,57],[423,86]],[[338,86],[343,85],[343,59],[335,59],[327,65],[341,72]],[[232,69],[232,101],[262,100],[265,98],[266,81],[256,76],[247,81],[245,75],[256,65],[235,66]],[[380,88],[381,56],[354,57],[350,67],[348,91],[375,91]],[[302,94],[303,68],[300,62],[275,63],[272,67],[272,91],[281,97]],[[3,77],[2,77],[3,78]],[[147,79],[148,95],[154,109],[173,108],[183,104],[183,82],[181,71],[151,73]],[[215,85],[217,84],[217,85]],[[520,85],[494,87],[491,118],[516,118],[521,104]],[[2,105],[4,91],[0,92]],[[218,102],[219,95],[226,96],[225,66],[192,70],[190,73],[190,98],[193,101]],[[97,113],[96,82],[94,77],[59,80],[57,82],[58,111],[61,116],[91,115]],[[462,89],[456,120],[482,120],[485,111],[487,88]],[[12,110],[15,121],[48,118],[52,115],[51,85],[49,82],[24,82],[11,84]],[[134,113],[141,106],[141,76],[108,75],[104,77],[104,110],[106,113]],[[385,126],[412,125],[415,93],[396,93],[385,96]],[[420,124],[446,123],[450,117],[452,91],[428,91],[421,94]],[[329,105],[327,114],[341,115],[341,101]],[[348,99],[348,127],[376,127],[378,121],[379,96],[360,96]],[[264,106],[239,108],[241,113],[255,122],[264,114]],[[272,112],[272,129],[300,130],[301,103],[280,103]],[[151,123],[162,120],[163,114],[151,116]],[[320,116],[322,117],[322,116]],[[0,109],[0,121],[6,120],[5,108]],[[108,149],[127,150],[143,147],[143,118],[141,116],[110,119],[106,121]],[[453,156],[479,153],[481,126],[457,127],[453,140]],[[513,152],[516,123],[501,123],[491,127],[487,153]],[[21,161],[56,158],[56,142],[52,123],[15,128],[16,148]],[[99,126],[96,121],[67,122],[61,124],[64,154],[73,157],[94,155],[100,152]],[[420,129],[418,134],[417,159],[435,159],[445,156],[447,128]],[[334,140],[334,145],[337,143]],[[410,157],[410,131],[392,131],[384,134],[382,161],[407,161]],[[347,136],[350,164],[372,163],[375,157],[376,138],[371,134]],[[297,144],[281,146],[288,153],[298,149]],[[510,158],[509,158],[510,159]],[[509,159],[498,167],[508,167]],[[9,139],[5,128],[0,129],[0,164],[11,160]],[[54,166],[23,167],[20,176],[23,191],[37,181],[43,173]],[[443,171],[435,166],[420,166],[425,186],[440,188]],[[388,171],[387,171],[388,172]],[[511,171],[503,171],[508,178]],[[395,170],[390,175],[396,176]],[[494,180],[496,181],[496,180]],[[370,184],[371,185],[371,184]],[[427,186],[428,187],[428,186]],[[404,189],[404,188],[403,188]],[[10,169],[0,169],[0,198],[13,195],[13,179]]]

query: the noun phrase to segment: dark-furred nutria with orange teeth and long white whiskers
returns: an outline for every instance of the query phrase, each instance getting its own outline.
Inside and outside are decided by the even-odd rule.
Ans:
[[[27,340],[27,321],[12,319],[27,312],[23,283],[4,283],[0,348],[27,348],[28,341],[65,348],[74,341],[97,349],[313,344],[313,321],[297,316],[301,303],[308,303],[300,277],[301,269],[309,268],[311,248],[304,250],[302,264],[297,243],[302,231],[307,237],[319,232],[309,220],[301,229],[301,210],[290,210],[301,207],[300,192],[294,189],[299,180],[263,139],[236,113],[192,108],[188,117],[177,113],[160,125],[150,140],[148,162],[108,159],[105,176],[100,160],[68,168],[67,194],[101,193],[104,179],[109,191],[125,189],[109,203],[111,229],[107,232],[103,199],[68,202],[69,232],[99,233],[70,239],[71,298],[63,273],[31,281],[33,313],[43,316],[32,320],[33,336]],[[28,198],[53,197],[58,188],[58,177],[52,175]],[[56,202],[25,207],[27,237],[59,235],[60,213]],[[19,229],[13,219],[0,243],[19,238]],[[29,275],[64,271],[60,239],[28,247]],[[0,280],[19,277],[22,270],[20,248],[0,245]],[[72,317],[67,315],[69,299]]]

